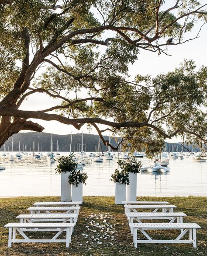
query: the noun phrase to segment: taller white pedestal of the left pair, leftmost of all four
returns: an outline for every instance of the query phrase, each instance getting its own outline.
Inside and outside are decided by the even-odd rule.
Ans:
[[[70,172],[61,172],[61,201],[71,201],[71,185],[68,183]]]

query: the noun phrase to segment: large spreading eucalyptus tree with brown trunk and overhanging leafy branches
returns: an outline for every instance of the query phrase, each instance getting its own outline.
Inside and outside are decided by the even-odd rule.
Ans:
[[[169,46],[199,36],[201,28],[196,36],[190,32],[198,20],[206,23],[207,4],[195,0],[170,4],[166,7],[164,0],[1,2],[0,145],[21,130],[44,130],[28,119],[57,120],[76,129],[87,123],[109,144],[99,128],[104,124],[122,136],[121,144],[125,140],[132,146],[145,144],[149,151],[164,138],[178,135],[205,142],[206,116],[200,108],[206,104],[205,67],[196,71],[192,61],[186,62],[152,81],[140,75],[131,81],[128,76],[140,50],[168,54]],[[38,93],[59,98],[62,104],[20,110],[30,95]]]

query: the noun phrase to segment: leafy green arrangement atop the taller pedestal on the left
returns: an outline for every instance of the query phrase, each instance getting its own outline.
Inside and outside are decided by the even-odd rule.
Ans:
[[[76,172],[77,168],[77,163],[73,159],[73,154],[71,154],[69,157],[60,157],[58,159],[59,165],[57,168],[55,168],[56,173],[61,173],[61,172]]]

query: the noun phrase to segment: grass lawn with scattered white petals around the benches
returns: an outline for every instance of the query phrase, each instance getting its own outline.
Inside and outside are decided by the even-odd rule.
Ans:
[[[115,205],[114,197],[85,196],[79,211],[79,218],[72,235],[69,249],[63,243],[20,243],[7,248],[8,229],[3,226],[16,222],[18,214],[28,214],[26,210],[37,201],[59,201],[59,197],[17,197],[0,198],[0,256],[204,256],[207,252],[207,197],[138,197],[138,200],[168,201],[175,204],[176,211],[187,214],[184,222],[193,222],[201,226],[197,230],[197,248],[190,244],[141,244],[135,249],[123,205]],[[105,214],[108,215],[105,215]],[[97,214],[97,215],[96,215]],[[103,215],[101,215],[103,214]],[[93,215],[93,217],[91,217]],[[102,219],[101,219],[102,218]],[[108,224],[101,232],[98,226]],[[93,226],[91,225],[93,224]],[[97,225],[97,226],[96,226]],[[111,225],[111,226],[110,226]],[[107,226],[107,225],[106,225]],[[105,235],[103,237],[103,234]],[[151,231],[150,235],[164,238],[166,231]],[[40,235],[36,232],[35,235]],[[44,233],[43,233],[44,234]],[[170,231],[168,239],[178,235]],[[106,239],[104,239],[106,238]]]

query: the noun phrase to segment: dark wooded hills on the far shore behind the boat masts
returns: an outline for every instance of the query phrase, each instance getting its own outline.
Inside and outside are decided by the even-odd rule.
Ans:
[[[19,150],[19,141],[20,141],[20,149],[25,151],[25,145],[27,151],[33,151],[33,141],[35,140],[35,151],[38,151],[38,141],[39,141],[39,151],[50,151],[51,147],[51,133],[17,133],[13,136],[13,151]],[[104,139],[108,140],[108,136],[103,136]],[[52,134],[53,140],[53,151],[57,151],[57,140],[59,144],[59,151],[70,151],[70,140],[71,134],[67,135],[59,135]],[[99,141],[99,136],[94,134],[86,134],[83,133],[83,151],[95,151],[95,147],[97,149]],[[117,144],[115,140],[111,140],[113,146]],[[82,133],[72,134],[72,151],[81,151],[82,144]],[[24,146],[23,146],[24,145]],[[100,142],[101,145],[101,142]],[[11,137],[5,143],[6,151],[11,151]],[[200,151],[200,147],[196,145],[183,145],[188,148],[190,151]],[[4,146],[1,146],[0,151],[4,150]],[[102,144],[102,150],[106,151],[105,146]],[[163,149],[165,151],[165,148]],[[144,149],[140,149],[140,151],[144,151]],[[182,147],[181,143],[166,143],[166,151],[187,151]]]

